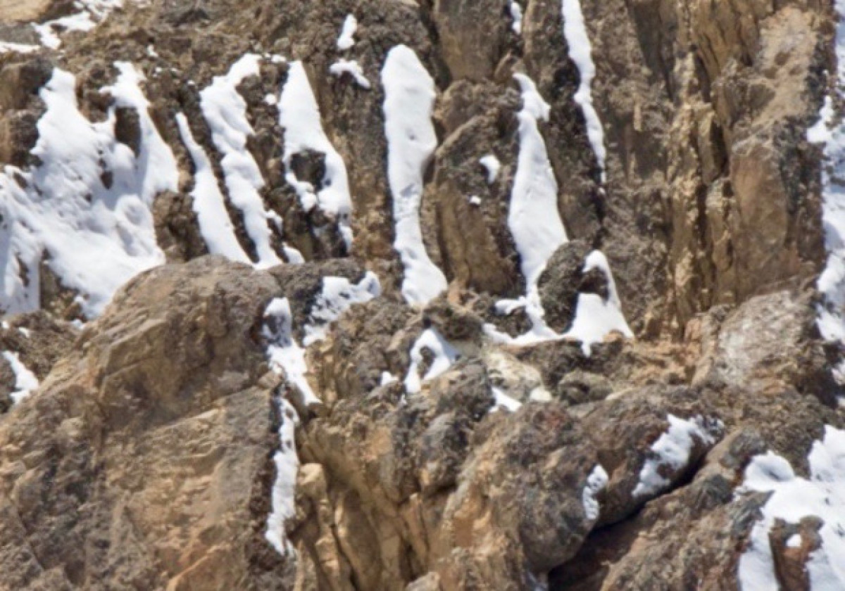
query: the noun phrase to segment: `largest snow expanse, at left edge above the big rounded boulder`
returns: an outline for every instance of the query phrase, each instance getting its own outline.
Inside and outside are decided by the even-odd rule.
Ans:
[[[118,287],[164,263],[150,213],[153,200],[177,190],[177,164],[152,122],[131,64],[117,62],[115,84],[103,89],[115,105],[104,122],[79,111],[75,79],[56,69],[41,89],[46,111],[38,122],[31,171],[0,174],[0,309],[30,312],[41,305],[42,260],[87,317],[95,317]],[[117,141],[118,106],[139,115],[139,153]]]

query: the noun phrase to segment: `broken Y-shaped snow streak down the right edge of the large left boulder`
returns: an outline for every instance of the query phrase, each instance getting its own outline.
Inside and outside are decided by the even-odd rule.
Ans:
[[[309,344],[324,339],[330,323],[344,311],[378,297],[380,292],[379,280],[371,273],[365,274],[357,284],[344,277],[324,277],[322,289],[308,313],[304,328],[304,347],[297,343],[294,335],[291,302],[286,297],[270,301],[264,311],[262,327],[270,366],[297,388],[306,407],[320,404],[319,398],[308,383],[306,348]],[[294,514],[294,488],[299,468],[294,432],[299,418],[288,400],[282,398],[277,402],[281,415],[280,447],[273,456],[276,477],[265,537],[275,550],[287,556],[292,552],[292,546],[285,535],[285,523]]]

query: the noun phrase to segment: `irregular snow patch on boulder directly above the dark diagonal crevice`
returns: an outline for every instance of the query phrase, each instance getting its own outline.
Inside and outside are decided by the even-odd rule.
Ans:
[[[722,431],[718,420],[707,420],[702,416],[691,419],[679,419],[668,415],[668,431],[663,433],[651,446],[651,457],[646,459],[640,470],[640,481],[632,496],[651,496],[665,491],[671,482],[661,474],[661,469],[677,472],[690,464],[695,441],[711,445],[717,441]]]

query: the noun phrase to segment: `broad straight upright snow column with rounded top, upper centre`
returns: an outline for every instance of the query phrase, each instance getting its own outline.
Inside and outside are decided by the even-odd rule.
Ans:
[[[424,171],[437,149],[432,122],[434,80],[410,47],[395,46],[384,62],[381,82],[394,247],[405,269],[402,295],[409,303],[422,304],[447,287],[443,272],[426,252],[419,214]]]

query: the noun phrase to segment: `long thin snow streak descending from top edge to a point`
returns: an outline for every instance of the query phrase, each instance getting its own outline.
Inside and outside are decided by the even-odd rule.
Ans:
[[[570,48],[570,59],[581,73],[581,84],[575,93],[575,102],[581,106],[586,120],[586,135],[590,140],[596,160],[602,169],[602,183],[606,180],[605,160],[607,149],[604,147],[604,130],[602,120],[598,117],[596,107],[592,104],[592,79],[596,77],[596,64],[592,61],[590,37],[587,35],[584,13],[581,11],[581,0],[563,0],[564,37]]]

